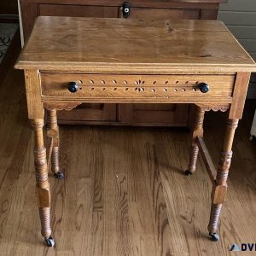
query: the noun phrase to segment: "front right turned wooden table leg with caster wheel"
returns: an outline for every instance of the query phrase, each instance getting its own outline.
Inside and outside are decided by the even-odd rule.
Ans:
[[[208,231],[213,241],[218,241],[218,218],[227,193],[227,178],[232,158],[231,149],[237,125],[238,119],[228,120],[224,146],[218,162],[217,176],[212,187],[212,207]]]

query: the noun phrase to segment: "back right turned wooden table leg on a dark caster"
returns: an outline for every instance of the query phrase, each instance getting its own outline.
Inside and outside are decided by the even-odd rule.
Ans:
[[[205,110],[196,106],[194,129],[192,133],[192,143],[189,155],[189,168],[185,172],[186,175],[191,175],[195,172],[196,162],[198,157],[199,148],[196,143],[196,137],[203,136],[203,122],[204,122]]]

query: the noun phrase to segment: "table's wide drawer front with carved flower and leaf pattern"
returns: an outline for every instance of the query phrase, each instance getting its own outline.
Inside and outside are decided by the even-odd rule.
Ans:
[[[75,82],[79,90],[72,93],[68,84]],[[230,99],[235,76],[233,75],[105,75],[42,73],[42,95],[47,97],[80,99],[131,98],[190,98],[211,101],[212,97]],[[202,93],[200,84],[209,85]]]

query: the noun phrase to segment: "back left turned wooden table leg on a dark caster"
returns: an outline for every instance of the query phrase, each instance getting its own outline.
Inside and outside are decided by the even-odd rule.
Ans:
[[[51,171],[56,178],[64,177],[59,166],[59,127],[57,123],[56,110],[47,110],[47,136],[53,138],[53,148],[51,154]]]

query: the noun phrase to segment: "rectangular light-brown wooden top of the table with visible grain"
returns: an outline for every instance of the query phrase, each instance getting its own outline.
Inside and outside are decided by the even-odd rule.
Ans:
[[[16,68],[90,73],[253,72],[218,20],[38,17]]]

